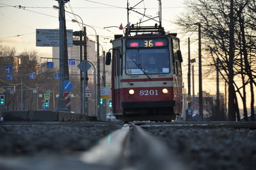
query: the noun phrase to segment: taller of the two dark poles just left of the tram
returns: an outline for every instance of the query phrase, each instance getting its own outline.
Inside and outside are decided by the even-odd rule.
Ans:
[[[99,54],[99,35],[97,35],[97,118],[102,120],[100,114],[100,54]]]

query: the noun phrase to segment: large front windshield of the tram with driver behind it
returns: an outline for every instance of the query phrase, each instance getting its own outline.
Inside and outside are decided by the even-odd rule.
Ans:
[[[125,73],[128,75],[170,73],[170,52],[167,48],[127,49]]]

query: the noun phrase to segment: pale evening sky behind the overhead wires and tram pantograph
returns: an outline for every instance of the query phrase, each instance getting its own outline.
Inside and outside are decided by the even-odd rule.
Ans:
[[[141,0],[129,0],[129,6],[134,6]],[[138,12],[143,13],[146,8],[147,15],[152,17],[157,16],[158,0],[144,0],[143,3],[136,6]],[[180,46],[182,56],[184,58],[183,78],[184,86],[187,87],[187,73],[188,73],[188,35],[182,34],[182,31],[173,22],[177,16],[186,12],[184,8],[184,0],[162,0],[162,25],[165,31],[170,33],[178,33],[180,38]],[[19,8],[20,5],[20,8]],[[0,45],[8,45],[15,47],[17,55],[23,51],[36,50],[40,57],[52,57],[52,47],[36,47],[36,29],[58,29],[58,10],[54,10],[52,6],[58,6],[58,1],[55,0],[0,0]],[[16,7],[14,7],[16,6]],[[123,26],[127,24],[127,0],[70,0],[65,4],[65,10],[76,13],[83,20],[84,24],[95,28],[97,35],[100,36],[100,44],[104,50],[111,49],[109,41],[113,39],[115,34],[123,34],[122,30],[117,27],[109,26]],[[67,29],[73,31],[81,30],[79,24],[71,22],[76,19],[81,22],[79,17],[74,17],[70,13],[66,13]],[[145,20],[141,15],[130,12],[129,18],[131,24],[136,24],[140,19]],[[155,22],[145,22],[147,25],[154,25]],[[145,26],[145,25],[144,25]],[[87,35],[90,39],[95,40],[95,32],[92,28],[86,27]],[[20,35],[20,36],[17,36]],[[196,35],[194,35],[196,37]],[[197,40],[191,40],[191,58],[196,58],[197,54]],[[198,66],[195,65],[195,72]],[[211,78],[211,77],[210,77]],[[197,82],[198,73],[195,73],[195,81]],[[216,82],[212,82],[209,77],[204,79],[203,75],[203,90],[212,94],[216,93]],[[204,84],[208,84],[204,86]],[[223,87],[223,84],[222,84]],[[191,89],[192,91],[192,89]],[[195,94],[197,94],[198,87],[195,87]],[[224,89],[221,89],[223,92]]]

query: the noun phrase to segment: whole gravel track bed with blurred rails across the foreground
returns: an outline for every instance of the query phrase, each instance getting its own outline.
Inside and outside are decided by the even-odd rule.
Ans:
[[[1,129],[7,133],[5,136],[2,133],[2,137],[10,139],[13,144],[6,145],[8,141],[2,138],[5,142],[0,147],[10,152],[6,151],[5,155],[0,152],[0,169],[182,170],[227,167],[247,170],[256,167],[252,156],[256,151],[253,142],[256,140],[255,125],[253,122],[136,122],[125,125],[36,122],[23,126],[22,123],[4,123]],[[18,137],[12,138],[16,132]],[[45,132],[47,134],[41,135]],[[24,138],[11,141],[21,137],[19,134]],[[23,139],[31,140],[31,143],[25,141],[18,147]],[[35,139],[43,142],[36,144]],[[12,146],[28,153],[11,152]]]

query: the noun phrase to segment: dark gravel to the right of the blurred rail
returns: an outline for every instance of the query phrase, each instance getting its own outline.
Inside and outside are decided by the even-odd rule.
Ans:
[[[256,130],[149,127],[190,169],[256,169]]]

